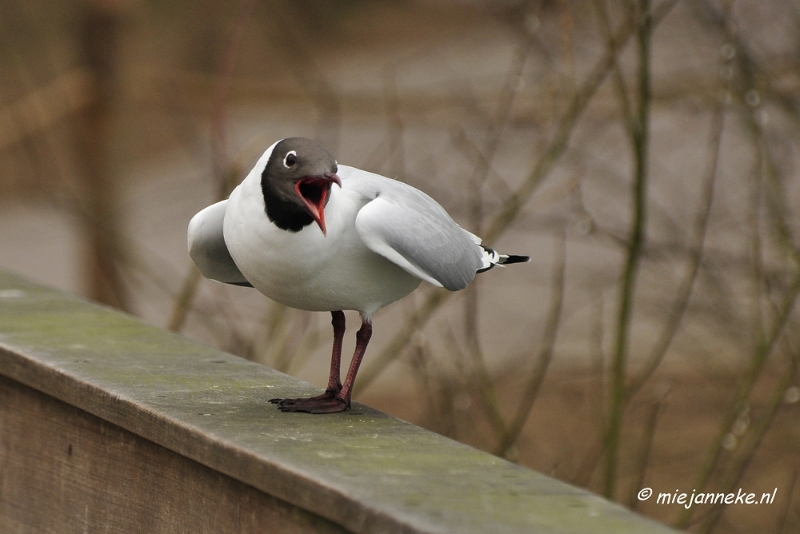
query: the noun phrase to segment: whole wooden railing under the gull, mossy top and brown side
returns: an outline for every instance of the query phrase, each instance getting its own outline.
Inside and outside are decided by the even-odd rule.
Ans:
[[[0,532],[672,532],[313,390],[0,272]]]

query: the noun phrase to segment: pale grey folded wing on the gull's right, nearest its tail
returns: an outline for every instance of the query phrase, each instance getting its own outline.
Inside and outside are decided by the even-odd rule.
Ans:
[[[483,265],[474,236],[422,191],[360,172],[361,188],[373,198],[356,217],[367,247],[427,282],[464,289]]]

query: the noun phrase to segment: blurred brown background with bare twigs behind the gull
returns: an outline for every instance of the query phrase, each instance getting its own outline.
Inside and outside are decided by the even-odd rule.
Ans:
[[[7,0],[0,268],[324,387],[328,314],[186,253],[294,135],[533,258],[381,311],[356,400],[692,532],[800,528],[800,2]]]

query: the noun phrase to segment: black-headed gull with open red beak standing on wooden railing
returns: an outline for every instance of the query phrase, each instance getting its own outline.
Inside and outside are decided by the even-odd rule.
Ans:
[[[311,398],[271,399],[284,412],[349,409],[373,315],[421,282],[458,291],[495,265],[530,261],[482,246],[422,191],[339,165],[302,137],[270,146],[227,200],[195,215],[188,244],[206,278],[331,313],[328,387]],[[360,313],[361,328],[342,383],[344,310]]]

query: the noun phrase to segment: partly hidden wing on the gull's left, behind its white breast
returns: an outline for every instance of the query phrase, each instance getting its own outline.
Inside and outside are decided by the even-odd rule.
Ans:
[[[225,244],[222,223],[227,203],[223,200],[212,204],[189,221],[189,256],[203,276],[210,280],[253,287],[239,271]]]

